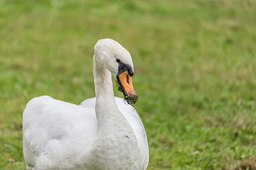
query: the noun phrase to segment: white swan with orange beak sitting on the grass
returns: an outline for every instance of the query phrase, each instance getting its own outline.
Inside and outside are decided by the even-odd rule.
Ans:
[[[114,96],[111,74],[126,101]],[[79,105],[50,96],[31,99],[23,111],[26,170],[145,170],[148,141],[133,107],[133,75],[130,53],[101,39],[93,55],[95,97]]]

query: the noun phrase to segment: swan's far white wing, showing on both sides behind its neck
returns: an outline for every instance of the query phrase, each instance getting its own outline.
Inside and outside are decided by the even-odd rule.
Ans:
[[[131,105],[127,105],[124,99],[115,97],[115,101],[119,111],[121,111],[121,113],[125,116],[125,119],[127,119],[133,128],[139,144],[141,147],[143,147],[142,149],[146,153],[145,156],[147,158],[145,159],[148,160],[148,140],[143,122],[141,121],[139,114]],[[81,102],[80,106],[85,108],[95,108],[95,103],[96,98],[93,97]],[[148,162],[146,164],[148,164]]]

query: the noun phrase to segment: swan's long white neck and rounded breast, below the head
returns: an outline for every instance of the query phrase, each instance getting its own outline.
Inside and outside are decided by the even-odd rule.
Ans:
[[[90,164],[95,169],[128,169],[126,166],[134,166],[139,152],[135,133],[117,108],[111,73],[97,56],[93,74],[98,128],[90,147]]]

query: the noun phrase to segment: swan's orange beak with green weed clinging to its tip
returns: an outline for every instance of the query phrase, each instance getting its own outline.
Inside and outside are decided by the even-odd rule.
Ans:
[[[117,83],[119,85],[119,91],[123,92],[125,100],[128,102],[128,104],[134,105],[137,102],[138,95],[134,91],[132,79],[128,74],[128,71],[125,71],[117,76]]]

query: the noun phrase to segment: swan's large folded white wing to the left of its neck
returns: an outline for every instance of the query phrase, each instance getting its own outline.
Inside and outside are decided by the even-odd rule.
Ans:
[[[23,112],[23,153],[26,163],[35,164],[40,154],[55,155],[94,139],[97,119],[94,109],[39,96]],[[79,148],[76,148],[79,149]],[[66,151],[67,151],[66,150]],[[66,153],[69,153],[68,151]]]

